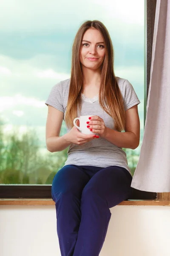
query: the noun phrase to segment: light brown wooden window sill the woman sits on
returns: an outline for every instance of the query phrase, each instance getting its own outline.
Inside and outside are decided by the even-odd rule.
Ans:
[[[0,199],[0,205],[55,205],[52,199]],[[118,205],[142,205],[142,206],[170,206],[170,201],[161,200],[128,200],[123,201]]]

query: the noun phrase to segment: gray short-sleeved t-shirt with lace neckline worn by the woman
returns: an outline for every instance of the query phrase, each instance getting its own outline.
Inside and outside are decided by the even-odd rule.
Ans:
[[[119,77],[116,77],[116,80],[123,96],[125,111],[139,104],[140,101],[130,82]],[[70,78],[60,81],[52,87],[48,99],[45,102],[46,105],[51,105],[59,111],[62,111],[64,113],[64,120],[69,86]],[[100,116],[104,120],[105,126],[113,129],[113,119],[100,107],[99,98],[97,96],[94,97],[94,99],[89,99],[82,95],[82,111],[78,113],[77,116],[86,115]],[[67,127],[67,132],[68,131],[70,131],[70,129]],[[84,145],[71,144],[68,149],[68,158],[65,162],[65,166],[70,164],[99,167],[115,165],[124,167],[130,172],[125,151],[102,138],[92,140]]]

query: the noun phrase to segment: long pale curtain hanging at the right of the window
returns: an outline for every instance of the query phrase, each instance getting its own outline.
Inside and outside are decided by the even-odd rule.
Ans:
[[[131,186],[170,192],[170,0],[157,0],[147,116]]]

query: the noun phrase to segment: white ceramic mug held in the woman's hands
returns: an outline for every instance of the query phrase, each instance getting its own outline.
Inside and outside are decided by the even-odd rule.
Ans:
[[[76,117],[73,121],[74,126],[79,129],[79,131],[81,131],[81,133],[83,134],[95,134],[94,132],[90,131],[89,128],[87,128],[87,122],[90,121],[90,119],[88,119],[91,116],[80,116],[80,117]],[[79,120],[79,125],[77,126],[76,121]]]

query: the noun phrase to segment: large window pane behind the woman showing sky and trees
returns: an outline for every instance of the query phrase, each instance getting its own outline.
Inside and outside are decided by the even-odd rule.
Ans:
[[[144,0],[40,1],[0,4],[0,183],[51,184],[67,149],[45,145],[45,100],[51,87],[68,79],[71,47],[81,23],[100,20],[115,51],[115,74],[133,85],[144,124]],[[12,6],[12,8],[8,8]],[[62,124],[61,135],[65,134]],[[125,149],[132,173],[139,159]]]

